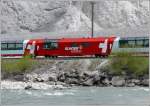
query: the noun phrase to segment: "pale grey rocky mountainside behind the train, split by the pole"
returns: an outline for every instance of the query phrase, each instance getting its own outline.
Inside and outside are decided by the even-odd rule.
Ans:
[[[95,3],[95,30],[139,28],[150,24],[149,0]],[[2,0],[1,34],[90,31],[89,1]]]

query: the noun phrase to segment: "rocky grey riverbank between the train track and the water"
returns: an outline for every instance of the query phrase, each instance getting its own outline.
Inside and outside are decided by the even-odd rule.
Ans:
[[[10,61],[10,60],[9,60]],[[7,62],[7,61],[5,61]],[[2,70],[2,88],[10,89],[5,83],[21,82],[21,88],[39,89],[34,84],[98,87],[149,86],[148,74],[141,77],[113,75],[108,73],[109,59],[36,60],[32,68],[22,73],[6,73]],[[3,68],[2,68],[3,69]],[[19,84],[18,83],[18,84]],[[33,83],[33,84],[27,84]],[[24,84],[24,85],[23,85]],[[17,85],[17,83],[16,83]],[[14,86],[15,87],[15,86]]]

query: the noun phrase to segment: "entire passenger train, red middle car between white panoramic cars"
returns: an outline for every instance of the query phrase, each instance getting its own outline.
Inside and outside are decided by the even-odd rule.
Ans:
[[[148,37],[94,37],[2,41],[1,56],[95,56],[114,52],[149,53]]]

